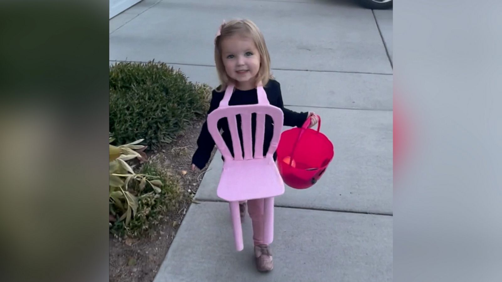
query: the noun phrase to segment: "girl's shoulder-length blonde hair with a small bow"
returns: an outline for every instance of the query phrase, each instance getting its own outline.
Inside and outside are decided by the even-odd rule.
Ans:
[[[214,39],[214,62],[216,63],[216,71],[220,80],[220,86],[216,91],[221,92],[226,89],[228,84],[235,83],[233,79],[228,77],[221,58],[221,42],[223,39],[234,35],[249,36],[253,39],[258,52],[260,52],[260,70],[256,78],[257,83],[262,81],[263,86],[267,85],[269,80],[273,78],[270,72],[270,55],[265,38],[258,27],[249,20],[232,20],[221,25],[220,35]]]

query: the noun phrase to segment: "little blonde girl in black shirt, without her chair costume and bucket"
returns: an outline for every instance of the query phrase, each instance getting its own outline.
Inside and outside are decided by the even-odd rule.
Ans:
[[[281,85],[272,79],[270,74],[270,56],[265,39],[253,22],[233,20],[223,23],[214,41],[214,61],[221,85],[212,92],[208,114],[219,106],[224,91],[229,84],[235,85],[235,89],[228,105],[257,104],[257,86],[262,82],[270,104],[283,110],[284,125],[301,127],[307,118],[311,119],[311,127],[318,122],[317,116],[313,112],[298,113],[284,107]],[[256,120],[256,115],[253,115],[253,119]],[[272,118],[267,116],[265,122],[264,154],[270,147],[273,135]],[[231,144],[230,130],[225,119],[218,122],[218,128],[222,129],[222,137],[227,146],[232,148],[229,145]],[[214,145],[206,121],[197,140],[197,151],[192,157],[192,170],[195,170],[195,167],[203,169],[206,166]],[[274,155],[274,160],[276,160],[276,155]],[[257,269],[259,271],[270,271],[273,268],[273,261],[270,246],[264,244],[263,240],[263,205],[264,199],[249,200],[247,203],[249,216],[253,221]],[[240,215],[243,217],[246,203],[242,202],[239,206]]]

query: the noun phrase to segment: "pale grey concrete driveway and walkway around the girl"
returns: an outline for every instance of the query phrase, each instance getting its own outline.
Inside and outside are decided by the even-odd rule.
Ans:
[[[276,198],[275,268],[258,273],[252,228],[236,252],[210,164],[155,281],[392,281],[392,10],[355,0],[144,0],[110,21],[110,61],[163,61],[217,86],[213,39],[249,18],[288,108],[315,111],[335,158],[321,181]],[[287,129],[287,128],[285,128]]]

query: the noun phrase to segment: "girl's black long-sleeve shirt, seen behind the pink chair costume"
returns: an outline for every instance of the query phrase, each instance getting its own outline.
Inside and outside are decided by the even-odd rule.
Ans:
[[[283,110],[284,113],[284,125],[286,126],[297,126],[301,127],[303,123],[307,120],[308,117],[308,112],[295,112],[292,110],[289,110],[284,107],[283,99],[282,99],[282,94],[281,94],[281,85],[279,82],[276,80],[271,79],[269,83],[264,87],[265,92],[267,93],[267,98],[269,99],[269,102],[271,105],[277,106],[280,109]],[[218,108],[220,101],[223,99],[224,96],[224,91],[223,92],[217,92],[216,90],[213,90],[212,92],[212,98],[211,98],[211,103],[209,106],[209,111],[208,114],[211,113],[213,110]],[[258,94],[257,94],[257,89],[251,89],[251,90],[238,90],[235,89],[232,96],[230,97],[230,101],[228,102],[228,105],[234,106],[234,105],[249,105],[249,104],[257,104],[258,103]],[[253,131],[253,151],[254,151],[254,144],[255,144],[255,131],[256,131],[256,114],[252,115],[252,131]],[[233,156],[233,146],[232,146],[232,138],[230,135],[230,130],[228,128],[228,122],[226,118],[222,118],[218,121],[218,129],[223,129],[222,137],[223,140],[225,140],[226,146],[230,150],[230,153]],[[240,143],[241,146],[240,148],[243,148],[242,146],[242,131],[240,128],[240,116],[237,115],[237,129],[239,131],[239,137],[240,137]],[[270,116],[266,116],[265,118],[265,140],[264,140],[264,149],[263,153],[264,156],[267,154],[270,146],[270,142],[272,140],[272,135],[274,133],[274,125],[272,118]],[[209,161],[209,158],[211,157],[211,153],[214,149],[214,139],[212,138],[211,134],[209,133],[209,130],[207,129],[207,121],[204,122],[204,125],[202,126],[202,130],[200,132],[199,138],[197,139],[197,150],[195,151],[193,157],[192,157],[192,164],[197,166],[199,169],[203,169],[207,162]],[[253,152],[254,154],[254,152]],[[275,155],[274,155],[275,157]]]

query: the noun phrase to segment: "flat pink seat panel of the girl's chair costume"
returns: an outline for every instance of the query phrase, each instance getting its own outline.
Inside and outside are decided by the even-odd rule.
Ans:
[[[284,194],[284,182],[272,157],[246,161],[228,161],[216,194],[228,201],[245,201]]]

